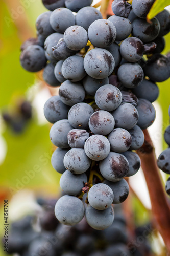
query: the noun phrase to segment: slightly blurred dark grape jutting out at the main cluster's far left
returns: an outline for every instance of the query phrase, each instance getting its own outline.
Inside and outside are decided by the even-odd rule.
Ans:
[[[38,72],[46,65],[44,49],[38,45],[30,45],[20,54],[22,68],[29,72]]]

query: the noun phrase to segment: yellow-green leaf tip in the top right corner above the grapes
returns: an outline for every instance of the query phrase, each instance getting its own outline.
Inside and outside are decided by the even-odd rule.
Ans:
[[[151,7],[150,12],[147,15],[147,19],[154,18],[159,12],[163,11],[163,9],[169,5],[169,0],[156,0]]]

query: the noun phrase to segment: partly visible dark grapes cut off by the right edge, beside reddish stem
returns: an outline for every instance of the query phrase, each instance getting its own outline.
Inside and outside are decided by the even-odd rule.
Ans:
[[[170,117],[170,106],[168,111],[169,117]],[[157,165],[158,167],[163,170],[165,174],[170,174],[170,125],[166,128],[164,132],[164,140],[168,145],[168,148],[164,150],[158,157]],[[166,181],[165,190],[167,195],[170,196],[170,177]]]

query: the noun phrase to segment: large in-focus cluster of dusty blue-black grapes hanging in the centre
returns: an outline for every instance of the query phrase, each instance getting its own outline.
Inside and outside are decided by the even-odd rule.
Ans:
[[[31,72],[44,68],[51,86],[61,84],[59,95],[44,105],[57,147],[52,165],[62,174],[65,193],[55,215],[65,225],[85,216],[100,230],[112,225],[112,203],[128,197],[124,178],[140,168],[134,150],[144,142],[142,130],[155,120],[155,82],[170,75],[169,59],[161,54],[170,14],[164,10],[148,22],[154,1],[144,0],[141,7],[139,0],[132,6],[114,0],[115,15],[103,19],[91,2],[43,1],[50,12],[37,18],[38,42],[22,46],[20,62]]]

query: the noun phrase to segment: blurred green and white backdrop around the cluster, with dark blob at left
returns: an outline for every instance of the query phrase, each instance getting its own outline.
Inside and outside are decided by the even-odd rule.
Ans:
[[[99,1],[93,1],[93,4]],[[36,74],[23,70],[19,63],[20,46],[29,37],[36,36],[35,21],[47,11],[41,0],[3,0],[1,2],[1,92],[0,92],[0,223],[3,226],[4,199],[9,200],[9,223],[40,211],[37,197],[56,198],[60,195],[60,174],[51,165],[55,150],[48,133],[50,124],[43,115],[45,101],[58,93]],[[170,33],[165,36],[170,51]],[[158,156],[167,146],[163,133],[169,125],[169,79],[158,83],[160,95],[154,103],[157,117],[149,128]],[[162,174],[163,182],[166,175]],[[131,177],[131,191],[124,203],[127,217],[135,225],[150,221],[151,204],[142,171]],[[130,210],[129,210],[130,209]],[[3,236],[3,229],[0,229]],[[159,241],[159,243],[157,243]],[[153,240],[155,255],[164,255],[162,240]],[[5,255],[2,248],[0,254]]]

